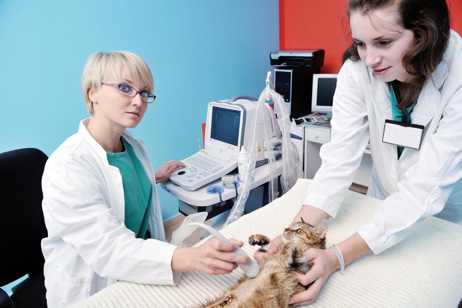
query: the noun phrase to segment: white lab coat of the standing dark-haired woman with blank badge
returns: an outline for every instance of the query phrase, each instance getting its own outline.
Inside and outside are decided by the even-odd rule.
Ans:
[[[347,60],[334,95],[331,141],[304,204],[335,217],[370,139],[373,161],[368,195],[384,199],[357,232],[378,254],[404,239],[431,215],[462,223],[462,39],[450,33],[444,60],[427,80],[411,114],[425,126],[420,150],[382,142],[393,119],[389,85],[364,61]],[[349,219],[354,219],[350,217]]]

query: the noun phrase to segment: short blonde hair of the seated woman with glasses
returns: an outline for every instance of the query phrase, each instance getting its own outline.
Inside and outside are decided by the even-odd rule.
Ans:
[[[82,74],[82,92],[90,115],[93,115],[94,110],[88,91],[90,88],[97,91],[109,76],[134,78],[138,82],[142,81],[148,87],[147,91],[154,92],[151,70],[140,56],[128,51],[113,51],[109,54],[96,52],[88,58]]]

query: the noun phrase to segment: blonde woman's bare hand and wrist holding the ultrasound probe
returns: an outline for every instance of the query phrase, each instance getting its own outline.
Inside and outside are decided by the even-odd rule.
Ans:
[[[176,248],[172,257],[172,271],[200,271],[209,275],[229,274],[236,263],[249,264],[249,256],[233,253],[243,242],[230,239],[231,243],[210,238],[199,247]]]

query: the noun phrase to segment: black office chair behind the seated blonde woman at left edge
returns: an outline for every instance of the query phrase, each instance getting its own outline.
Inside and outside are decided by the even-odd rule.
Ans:
[[[0,285],[29,274],[12,288],[0,290],[0,308],[46,308],[40,241],[47,237],[42,211],[42,175],[48,157],[37,149],[0,154]]]

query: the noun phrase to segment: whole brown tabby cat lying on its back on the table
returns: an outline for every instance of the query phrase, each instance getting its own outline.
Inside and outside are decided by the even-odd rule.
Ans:
[[[244,276],[224,295],[207,308],[249,308],[287,307],[290,296],[306,289],[298,282],[293,271],[306,273],[312,263],[306,259],[304,251],[310,248],[326,249],[327,224],[318,226],[302,222],[286,228],[282,235],[283,245],[276,254],[268,254],[258,260],[260,274],[255,278]],[[259,251],[266,252],[270,240],[256,234],[249,237],[250,245],[259,245]],[[293,307],[293,305],[289,305]]]

